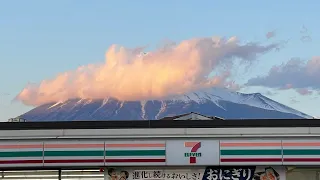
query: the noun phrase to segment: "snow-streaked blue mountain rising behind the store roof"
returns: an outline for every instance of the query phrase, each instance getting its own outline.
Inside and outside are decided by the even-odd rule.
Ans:
[[[36,107],[21,117],[27,121],[154,120],[189,112],[225,119],[312,118],[260,93],[244,94],[221,88],[201,90],[162,101],[72,99]]]

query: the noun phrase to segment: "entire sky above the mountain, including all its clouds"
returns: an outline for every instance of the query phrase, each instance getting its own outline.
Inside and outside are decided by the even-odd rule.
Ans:
[[[161,98],[205,86],[259,92],[320,117],[319,5],[1,1],[0,121],[69,97]]]

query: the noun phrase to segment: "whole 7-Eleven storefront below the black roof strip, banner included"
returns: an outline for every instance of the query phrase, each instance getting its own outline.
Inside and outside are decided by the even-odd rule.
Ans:
[[[2,130],[0,173],[34,180],[320,180],[318,134],[318,127]],[[33,171],[21,173],[26,169]]]

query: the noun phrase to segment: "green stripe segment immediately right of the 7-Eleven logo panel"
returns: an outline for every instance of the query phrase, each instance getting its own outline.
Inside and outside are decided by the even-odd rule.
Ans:
[[[220,155],[282,155],[281,149],[237,149],[220,150]]]

